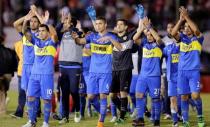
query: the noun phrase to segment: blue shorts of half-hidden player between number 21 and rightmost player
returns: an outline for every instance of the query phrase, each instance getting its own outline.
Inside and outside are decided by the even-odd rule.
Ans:
[[[174,97],[177,96],[177,82],[168,81],[168,96]]]

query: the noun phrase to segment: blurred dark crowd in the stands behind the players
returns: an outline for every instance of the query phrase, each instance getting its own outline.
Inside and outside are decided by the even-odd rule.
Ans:
[[[136,25],[138,17],[134,7],[141,3],[154,26],[163,30],[168,22],[178,18],[177,7],[185,6],[192,19],[199,25],[201,31],[210,29],[210,0],[3,0],[1,4],[1,28],[11,26],[14,19],[25,15],[31,4],[35,4],[40,11],[49,10],[51,22],[56,24],[61,10],[70,11],[72,16],[82,22],[85,27],[91,27],[85,8],[94,5],[98,14],[105,16],[109,27],[113,28],[119,17],[129,19],[130,25]],[[113,21],[114,20],[114,21]]]

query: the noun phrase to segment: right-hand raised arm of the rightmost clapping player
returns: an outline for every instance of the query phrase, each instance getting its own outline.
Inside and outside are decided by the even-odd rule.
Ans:
[[[187,10],[184,7],[180,8],[180,13],[183,15],[186,22],[189,24],[190,28],[192,29],[195,36],[200,37],[202,36],[200,30],[198,29],[197,25],[190,19]]]

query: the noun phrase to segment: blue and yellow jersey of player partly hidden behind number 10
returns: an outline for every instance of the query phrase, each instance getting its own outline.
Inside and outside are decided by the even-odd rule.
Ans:
[[[32,36],[38,36],[38,33],[32,33]],[[22,35],[22,34],[21,34]],[[23,42],[23,64],[33,64],[34,63],[34,45],[29,42],[26,37],[22,36]]]

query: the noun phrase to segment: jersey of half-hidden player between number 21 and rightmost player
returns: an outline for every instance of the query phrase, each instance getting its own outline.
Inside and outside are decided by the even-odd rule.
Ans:
[[[179,44],[172,43],[163,49],[166,57],[167,80],[177,81],[179,63]]]

